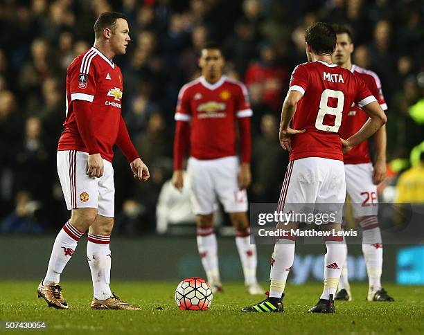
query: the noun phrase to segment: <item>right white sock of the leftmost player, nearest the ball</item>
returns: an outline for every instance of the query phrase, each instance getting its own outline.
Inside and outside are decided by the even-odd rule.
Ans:
[[[110,235],[88,235],[87,261],[93,280],[94,298],[105,300],[112,297],[110,290],[111,257],[109,248]]]

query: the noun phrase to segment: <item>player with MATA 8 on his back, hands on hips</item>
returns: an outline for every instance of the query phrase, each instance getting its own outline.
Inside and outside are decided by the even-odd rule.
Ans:
[[[378,131],[386,116],[360,78],[333,64],[333,26],[312,24],[306,30],[305,40],[309,62],[294,69],[281,111],[280,142],[284,150],[290,151],[290,163],[277,210],[294,214],[317,211],[331,217],[319,226],[323,233],[328,233],[324,235],[324,290],[317,305],[309,311],[334,313],[333,298],[345,260],[344,241],[339,236],[346,197],[343,151],[351,150]],[[341,139],[339,127],[353,102],[370,118],[359,132],[347,140]],[[242,311],[283,311],[285,282],[294,260],[296,236],[292,232],[298,227],[299,222],[294,220],[277,224],[285,235],[274,246],[270,295]]]

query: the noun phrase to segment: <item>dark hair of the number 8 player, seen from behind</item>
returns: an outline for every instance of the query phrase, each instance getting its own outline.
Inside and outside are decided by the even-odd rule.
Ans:
[[[305,41],[317,55],[333,53],[337,37],[333,26],[324,22],[312,24],[305,33]]]

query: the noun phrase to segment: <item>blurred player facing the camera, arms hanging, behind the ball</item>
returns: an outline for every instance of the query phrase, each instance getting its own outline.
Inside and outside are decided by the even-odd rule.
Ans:
[[[256,280],[256,246],[250,243],[246,188],[251,182],[249,96],[244,84],[222,75],[224,57],[216,44],[202,48],[202,76],[179,91],[175,120],[173,184],[183,187],[183,159],[190,145],[193,212],[197,217],[197,248],[208,282],[220,291],[218,247],[213,233],[217,198],[236,228],[236,245],[247,291],[263,293]],[[240,132],[241,165],[236,156],[236,125]]]

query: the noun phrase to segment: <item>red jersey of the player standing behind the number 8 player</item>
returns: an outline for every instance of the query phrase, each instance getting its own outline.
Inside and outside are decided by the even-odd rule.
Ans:
[[[382,110],[387,110],[387,104],[385,97],[382,94],[381,82],[378,75],[376,75],[373,71],[363,69],[357,65],[352,65],[351,72],[355,73],[357,77],[364,80],[373,96],[377,98]],[[368,116],[364,113],[364,111],[362,111],[357,104],[352,105],[346,120],[344,120],[342,127],[339,129],[340,137],[345,139],[349,138],[360,130],[367,120]],[[356,147],[353,147],[351,151],[344,154],[345,164],[360,164],[369,162],[371,162],[371,157],[369,156],[368,140],[362,142]]]

